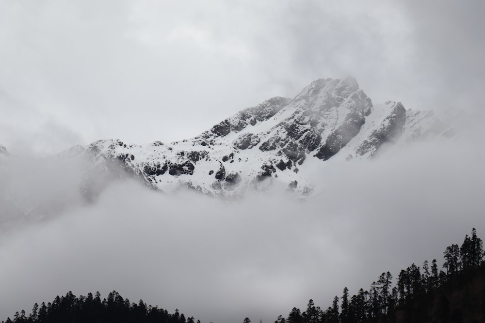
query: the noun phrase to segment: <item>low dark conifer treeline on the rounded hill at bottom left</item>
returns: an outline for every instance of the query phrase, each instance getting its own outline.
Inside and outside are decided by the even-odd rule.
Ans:
[[[56,298],[47,305],[35,303],[32,312],[25,310],[16,312],[12,319],[7,318],[2,323],[195,323],[194,317],[185,318],[178,309],[170,314],[166,309],[147,306],[143,300],[130,303],[116,292],[110,292],[101,300],[101,295],[89,293],[87,296],[76,297],[72,292]],[[200,321],[197,320],[197,323]]]

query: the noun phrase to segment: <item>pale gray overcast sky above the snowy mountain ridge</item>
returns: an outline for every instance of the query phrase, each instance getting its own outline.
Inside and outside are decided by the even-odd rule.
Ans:
[[[100,138],[193,137],[320,77],[374,103],[470,109],[481,0],[0,3],[0,143],[46,155]]]

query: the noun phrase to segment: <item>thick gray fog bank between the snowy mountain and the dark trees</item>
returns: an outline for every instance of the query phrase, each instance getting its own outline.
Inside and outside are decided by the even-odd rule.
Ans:
[[[389,147],[372,161],[318,160],[307,200],[255,192],[227,201],[115,181],[94,203],[3,235],[0,317],[68,291],[116,290],[202,322],[273,322],[310,298],[327,308],[345,286],[368,289],[384,271],[441,264],[472,227],[485,232],[485,154],[472,134]],[[54,201],[60,188],[75,191],[45,169],[23,182],[31,194]]]

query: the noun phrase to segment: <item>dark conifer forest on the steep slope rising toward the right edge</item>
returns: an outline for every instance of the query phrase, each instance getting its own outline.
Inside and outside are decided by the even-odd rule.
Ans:
[[[473,313],[469,315],[484,318],[484,246],[475,228],[471,236],[465,236],[461,246],[448,246],[443,257],[442,268],[446,271],[438,270],[436,259],[431,265],[424,261],[421,268],[413,263],[400,271],[394,286],[392,275],[385,272],[372,282],[369,290],[361,288],[356,295],[349,296],[345,287],[342,296],[335,296],[326,310],[315,307],[310,299],[305,311],[293,308],[287,317],[280,315],[275,323],[461,322],[463,311],[456,307],[470,304],[468,311]],[[481,295],[470,300],[463,288],[475,282],[473,279],[480,279],[483,287],[480,291],[473,290],[472,293]],[[452,292],[456,302],[467,302],[454,304],[454,311],[450,310]]]

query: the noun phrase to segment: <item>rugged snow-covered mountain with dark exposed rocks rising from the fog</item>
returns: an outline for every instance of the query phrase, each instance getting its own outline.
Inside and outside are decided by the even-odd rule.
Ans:
[[[314,185],[305,171],[310,161],[371,158],[385,143],[447,130],[432,111],[406,110],[391,101],[374,106],[354,78],[327,78],[293,99],[274,97],[243,109],[194,138],[145,145],[98,140],[58,157],[84,156],[97,173],[134,175],[165,192],[189,187],[229,197],[279,187],[306,194]],[[101,182],[98,175],[89,177],[86,191],[96,180]]]

